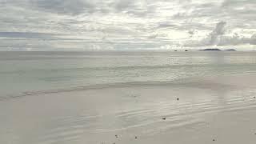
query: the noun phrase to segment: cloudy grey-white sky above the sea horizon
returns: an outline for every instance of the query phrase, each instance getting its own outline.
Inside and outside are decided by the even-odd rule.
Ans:
[[[0,0],[0,50],[256,50],[256,0]]]

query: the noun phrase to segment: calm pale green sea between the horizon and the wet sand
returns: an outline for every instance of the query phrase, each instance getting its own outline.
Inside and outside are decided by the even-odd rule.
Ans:
[[[256,52],[0,52],[0,97],[256,73]]]

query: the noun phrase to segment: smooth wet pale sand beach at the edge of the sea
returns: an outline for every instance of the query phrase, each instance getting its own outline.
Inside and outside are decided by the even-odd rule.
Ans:
[[[0,101],[0,143],[256,142],[256,74]]]

